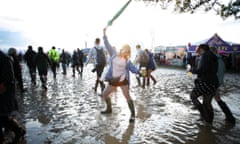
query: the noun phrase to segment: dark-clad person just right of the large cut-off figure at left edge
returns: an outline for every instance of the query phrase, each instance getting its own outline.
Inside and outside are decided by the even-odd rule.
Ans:
[[[26,91],[26,89],[24,89],[23,86],[22,67],[18,59],[17,50],[15,48],[10,48],[8,50],[8,55],[13,62],[14,76],[17,80],[18,87],[20,89],[20,92],[23,93]]]

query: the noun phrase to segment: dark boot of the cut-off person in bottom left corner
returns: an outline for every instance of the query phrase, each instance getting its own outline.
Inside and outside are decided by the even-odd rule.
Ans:
[[[8,119],[8,121],[6,123],[6,127],[9,128],[10,130],[12,130],[15,134],[13,143],[17,143],[18,141],[20,141],[21,138],[23,138],[24,135],[26,134],[25,128],[20,126],[18,124],[18,122],[13,118]]]

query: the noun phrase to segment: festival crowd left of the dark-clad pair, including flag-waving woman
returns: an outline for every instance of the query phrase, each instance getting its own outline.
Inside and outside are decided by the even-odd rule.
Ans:
[[[47,90],[49,69],[51,69],[54,79],[57,78],[57,69],[60,65],[63,75],[67,74],[67,68],[71,65],[72,76],[75,77],[76,71],[82,76],[84,65],[86,66],[93,59],[94,68],[92,72],[96,72],[96,82],[93,89],[97,92],[100,84],[101,96],[106,101],[106,110],[101,113],[108,114],[112,112],[110,93],[115,91],[117,87],[120,87],[131,112],[129,121],[134,122],[135,107],[129,94],[129,72],[131,71],[137,75],[137,86],[139,87],[145,88],[145,85],[149,86],[150,79],[153,80],[153,84],[156,84],[157,81],[151,74],[156,68],[153,54],[147,49],[142,50],[141,46],[137,45],[137,55],[134,63],[132,63],[130,61],[131,47],[128,44],[123,45],[120,51],[117,52],[116,48],[112,47],[108,42],[106,29],[104,29],[103,40],[105,47],[101,46],[101,40],[96,38],[95,46],[89,51],[85,62],[84,54],[79,48],[70,55],[64,49],[59,53],[55,46],[48,52],[45,52],[44,48],[40,46],[36,52],[29,45],[25,54],[21,57],[18,55],[16,48],[9,48],[6,54],[0,51],[0,142],[4,141],[3,132],[8,129],[15,132],[15,141],[18,141],[25,134],[25,129],[11,115],[13,111],[18,109],[15,90],[20,90],[21,94],[27,90],[23,84],[22,60],[28,67],[32,85],[37,84],[38,74],[43,90]],[[104,70],[106,73],[103,75]],[[145,84],[145,81],[147,81],[147,84]]]

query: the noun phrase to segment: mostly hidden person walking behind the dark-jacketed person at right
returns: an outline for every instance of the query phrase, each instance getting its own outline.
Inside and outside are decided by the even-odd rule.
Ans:
[[[215,47],[210,47],[210,50],[217,56],[218,59],[218,71],[217,71],[217,77],[219,81],[220,88],[224,86],[224,72],[225,72],[225,64],[222,60],[221,55],[217,53],[217,49]],[[214,96],[214,99],[217,101],[219,107],[222,109],[226,116],[226,121],[235,124],[236,119],[234,118],[231,110],[227,106],[227,104],[221,99],[220,97],[220,88],[217,89],[216,95]]]

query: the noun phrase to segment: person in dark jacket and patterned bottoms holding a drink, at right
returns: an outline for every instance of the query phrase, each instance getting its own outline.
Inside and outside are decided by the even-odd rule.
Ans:
[[[216,95],[219,85],[217,78],[218,62],[217,57],[210,51],[209,46],[201,44],[198,46],[197,52],[201,56],[199,66],[196,70],[192,70],[193,74],[197,74],[190,98],[196,108],[199,110],[201,117],[209,123],[212,123],[214,113],[212,108],[212,98]],[[198,97],[203,96],[203,103],[200,103]]]

